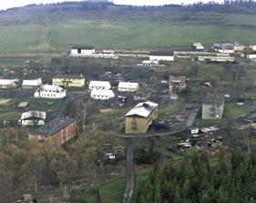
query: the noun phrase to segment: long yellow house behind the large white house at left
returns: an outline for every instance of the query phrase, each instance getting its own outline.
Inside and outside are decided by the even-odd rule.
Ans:
[[[85,86],[85,77],[83,75],[57,74],[52,79],[53,85],[65,87],[83,87]]]

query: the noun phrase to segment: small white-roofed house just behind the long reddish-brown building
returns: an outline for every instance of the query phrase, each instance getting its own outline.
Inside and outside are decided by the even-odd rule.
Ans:
[[[27,111],[23,113],[18,121],[22,127],[26,126],[42,126],[45,125],[46,112],[43,111]]]

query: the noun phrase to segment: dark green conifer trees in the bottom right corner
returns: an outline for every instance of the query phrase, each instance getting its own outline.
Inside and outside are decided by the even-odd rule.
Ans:
[[[194,153],[179,163],[155,167],[148,178],[140,179],[135,202],[149,202],[148,194],[155,203],[254,202],[255,172],[254,157],[241,151],[230,157],[220,151],[218,160],[211,163],[205,154]]]

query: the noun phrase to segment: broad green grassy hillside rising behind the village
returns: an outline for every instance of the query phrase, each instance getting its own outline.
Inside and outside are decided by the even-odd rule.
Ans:
[[[152,48],[226,40],[249,45],[256,29],[256,15],[88,2],[29,5],[2,11],[0,19],[0,54],[61,53],[73,45]]]

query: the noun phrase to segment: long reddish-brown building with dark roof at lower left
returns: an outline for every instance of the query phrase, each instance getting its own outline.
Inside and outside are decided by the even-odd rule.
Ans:
[[[29,134],[30,141],[56,142],[63,145],[77,134],[77,122],[74,118],[56,117]]]

